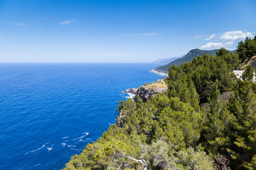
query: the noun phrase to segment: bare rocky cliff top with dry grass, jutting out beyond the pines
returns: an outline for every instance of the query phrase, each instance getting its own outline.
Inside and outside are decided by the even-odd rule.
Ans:
[[[158,86],[152,86],[152,87],[147,87],[147,86],[142,86],[139,87],[137,90],[137,93],[134,97],[134,101],[137,102],[137,95],[141,97],[143,101],[150,100],[150,97],[156,96],[158,93],[164,94],[167,91],[167,88],[163,87],[158,87]]]

